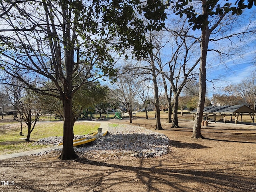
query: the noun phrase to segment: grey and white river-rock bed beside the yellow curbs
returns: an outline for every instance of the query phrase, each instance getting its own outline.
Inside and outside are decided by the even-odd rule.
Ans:
[[[75,136],[76,139],[86,137]],[[49,137],[40,139],[35,144],[59,144],[62,137]],[[169,139],[166,135],[153,132],[143,127],[131,125],[108,126],[108,134],[97,138],[91,145],[75,147],[75,152],[80,156],[94,158],[104,157],[156,157],[167,154],[169,151]],[[51,150],[58,152],[61,150]],[[48,154],[50,151],[36,155]]]

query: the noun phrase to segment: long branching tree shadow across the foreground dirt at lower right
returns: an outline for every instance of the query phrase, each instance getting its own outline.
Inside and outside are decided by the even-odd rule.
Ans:
[[[216,164],[216,168],[208,170],[206,168],[209,164],[208,162],[168,166],[166,162],[160,160],[157,165],[144,167],[143,165],[148,160],[141,159],[140,164],[134,164],[134,166],[98,162],[87,158],[78,158],[76,161],[82,164],[98,166],[99,170],[101,168],[114,168],[111,171],[104,171],[101,180],[97,181],[100,191],[106,191],[106,189],[114,188],[122,183],[134,186],[140,183],[141,186],[146,187],[146,190],[143,191],[147,192],[164,192],[166,190],[196,191],[200,189],[197,185],[186,185],[185,183],[204,185],[209,190],[214,191],[243,191],[254,188],[252,183],[254,176],[237,175],[233,174],[232,171],[227,172],[225,169],[217,168],[219,166],[230,166],[227,162],[211,162],[211,164]],[[242,170],[244,166],[248,166],[248,164],[245,162],[244,164],[237,164],[236,169]],[[116,177],[116,173],[118,177]],[[103,181],[105,185],[100,185]]]

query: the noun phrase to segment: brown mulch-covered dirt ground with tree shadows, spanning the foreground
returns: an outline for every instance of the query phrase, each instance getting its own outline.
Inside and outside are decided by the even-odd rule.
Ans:
[[[193,122],[158,131],[170,139],[170,152],[156,158],[58,154],[0,161],[0,192],[251,192],[256,191],[256,126],[210,122],[206,139],[194,139]],[[134,125],[154,130],[155,120]]]

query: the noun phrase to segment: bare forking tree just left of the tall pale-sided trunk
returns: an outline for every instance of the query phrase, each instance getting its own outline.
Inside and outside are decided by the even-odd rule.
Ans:
[[[194,68],[200,62],[200,57],[196,56],[196,42],[197,38],[190,34],[191,27],[186,26],[186,20],[177,22],[181,23],[175,30],[167,29],[173,36],[172,52],[169,52],[170,60],[165,66],[167,68],[164,74],[164,78],[170,82],[173,98],[173,118],[172,127],[178,128],[178,98],[182,92],[183,87],[188,81],[196,76]],[[160,63],[160,67],[164,66]]]

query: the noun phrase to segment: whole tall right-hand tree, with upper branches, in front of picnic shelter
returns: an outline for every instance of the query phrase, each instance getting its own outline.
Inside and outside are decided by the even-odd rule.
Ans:
[[[190,0],[192,2],[192,0]],[[248,8],[252,7],[253,1],[248,1]],[[244,34],[253,33],[253,30],[242,30],[240,32],[235,32],[233,34],[227,34],[222,29],[223,26],[232,26],[231,24],[234,22],[234,17],[224,20],[226,15],[228,16],[228,12],[232,11],[232,14],[242,14],[242,9],[247,6],[244,4],[244,0],[240,0],[237,7],[231,7],[230,3],[224,4],[224,6],[217,5],[218,0],[216,1],[201,1],[201,11],[194,11],[194,7],[192,4],[184,3],[183,0],[176,2],[175,11],[176,14],[182,16],[186,14],[189,18],[188,22],[193,25],[193,30],[201,29],[201,37],[200,37],[200,50],[201,50],[201,60],[200,60],[200,69],[199,69],[199,100],[197,113],[195,118],[195,123],[193,127],[193,138],[203,138],[201,134],[201,121],[203,116],[204,102],[206,96],[206,58],[208,51],[214,51],[218,54],[225,54],[217,49],[210,49],[209,42],[216,42],[223,39],[228,39],[232,42],[232,37],[243,36]],[[193,4],[194,5],[194,4]],[[250,6],[249,6],[250,5]],[[224,22],[222,22],[224,21]],[[225,27],[224,27],[225,28]],[[212,36],[212,38],[210,38]]]

